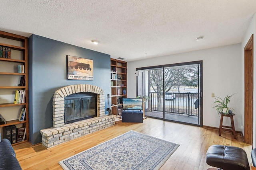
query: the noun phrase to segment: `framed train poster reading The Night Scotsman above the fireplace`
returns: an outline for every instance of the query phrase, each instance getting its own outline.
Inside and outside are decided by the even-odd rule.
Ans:
[[[67,55],[68,80],[93,80],[93,60]]]

